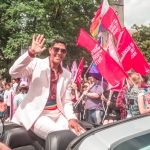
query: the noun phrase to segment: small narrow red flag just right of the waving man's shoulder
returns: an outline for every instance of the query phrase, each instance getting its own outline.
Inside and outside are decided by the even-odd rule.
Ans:
[[[80,84],[81,84],[83,67],[84,67],[84,57],[82,57],[82,59],[80,61],[80,64],[78,66],[78,69],[77,69],[77,72],[76,72],[75,78],[74,78],[74,83],[76,83],[78,85],[78,87],[80,87]]]

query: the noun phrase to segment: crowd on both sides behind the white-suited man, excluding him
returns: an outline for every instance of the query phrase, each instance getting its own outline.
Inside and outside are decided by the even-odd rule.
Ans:
[[[105,125],[114,121],[150,113],[149,76],[131,71],[119,89],[109,89],[109,84],[99,74],[84,75],[80,87],[71,84],[73,111],[78,120]],[[0,83],[0,117],[11,121],[14,112],[26,96],[27,78],[12,78]]]

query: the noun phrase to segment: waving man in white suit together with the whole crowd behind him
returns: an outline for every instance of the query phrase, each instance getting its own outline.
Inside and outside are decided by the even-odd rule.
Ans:
[[[105,125],[150,113],[148,75],[130,72],[120,88],[110,89],[105,79],[89,73],[78,86],[61,66],[67,53],[63,40],[56,39],[49,45],[49,57],[36,57],[45,50],[45,41],[43,35],[33,36],[31,49],[10,68],[11,82],[1,81],[3,120],[46,139],[56,130],[70,129],[77,135],[86,132],[78,120]]]

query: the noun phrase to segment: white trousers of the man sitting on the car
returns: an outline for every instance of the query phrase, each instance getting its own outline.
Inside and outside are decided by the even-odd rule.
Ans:
[[[68,128],[68,120],[57,110],[44,110],[35,121],[31,130],[42,139],[46,139],[50,132],[65,130]]]

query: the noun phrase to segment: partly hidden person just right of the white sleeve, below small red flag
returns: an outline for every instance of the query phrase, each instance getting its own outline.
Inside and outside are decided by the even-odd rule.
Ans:
[[[78,91],[78,87],[77,87],[77,84],[76,83],[72,83],[71,85],[71,97],[72,97],[72,103],[73,103],[73,106],[74,104],[77,102],[77,100],[79,99],[80,97],[80,92]],[[81,113],[81,105],[80,103],[73,107],[73,111],[77,117],[78,120],[80,120],[80,113]]]

